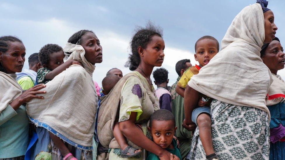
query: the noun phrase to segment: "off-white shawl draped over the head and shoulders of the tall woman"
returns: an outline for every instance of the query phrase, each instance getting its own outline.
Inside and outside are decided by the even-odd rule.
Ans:
[[[234,18],[222,50],[188,82],[209,97],[238,106],[270,112],[265,97],[272,75],[260,58],[265,40],[264,15],[259,3],[245,7]]]

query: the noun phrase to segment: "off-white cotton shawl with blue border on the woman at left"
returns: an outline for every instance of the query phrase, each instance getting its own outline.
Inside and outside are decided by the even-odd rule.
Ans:
[[[92,79],[95,66],[88,62],[81,45],[67,43],[63,51],[72,52],[66,60],[80,61],[46,83],[44,99],[27,103],[27,114],[37,126],[48,129],[65,142],[83,150],[92,149],[97,94]],[[68,55],[68,54],[67,54]]]

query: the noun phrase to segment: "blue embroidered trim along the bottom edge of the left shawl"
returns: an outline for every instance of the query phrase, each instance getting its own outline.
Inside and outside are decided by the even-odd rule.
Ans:
[[[28,116],[29,117],[29,116]],[[58,133],[57,131],[55,131],[53,128],[51,128],[50,126],[48,126],[45,123],[39,122],[39,120],[37,119],[33,119],[32,117],[29,117],[29,119],[36,124],[37,126],[40,127],[44,127],[45,129],[47,129],[48,131],[52,132],[55,136],[58,136],[59,138],[61,138],[62,140],[64,140],[65,142],[69,143],[70,145],[73,145],[74,147],[80,148],[82,150],[93,150],[93,147],[86,147],[86,146],[82,146],[79,145],[77,143],[74,143],[72,140],[69,140],[68,138],[66,138],[65,136],[63,136],[62,134]]]

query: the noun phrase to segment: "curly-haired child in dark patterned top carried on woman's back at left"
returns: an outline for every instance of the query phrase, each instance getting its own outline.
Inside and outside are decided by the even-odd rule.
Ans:
[[[47,44],[39,51],[39,61],[44,68],[40,68],[37,71],[37,82],[38,84],[46,84],[52,80],[56,75],[67,69],[73,64],[81,65],[79,61],[69,60],[63,63],[65,55],[62,48],[57,44]],[[82,65],[81,65],[82,66]],[[58,147],[61,154],[66,156],[69,150],[64,145],[64,142],[53,133],[49,132],[51,140]],[[73,156],[69,156],[73,160],[76,159]]]

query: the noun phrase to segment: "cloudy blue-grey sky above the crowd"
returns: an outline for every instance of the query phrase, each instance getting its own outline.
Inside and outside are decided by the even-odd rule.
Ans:
[[[237,13],[255,3],[249,0],[227,1],[1,1],[1,36],[19,37],[26,47],[26,59],[48,43],[64,46],[81,29],[95,32],[103,48],[103,62],[96,64],[93,79],[101,85],[110,68],[123,74],[130,53],[129,42],[135,26],[148,20],[161,26],[166,48],[162,67],[169,72],[169,84],[178,77],[175,64],[180,59],[194,60],[194,44],[210,35],[219,42]],[[276,36],[285,41],[285,1],[269,0],[278,27]],[[28,68],[26,60],[24,68]],[[278,72],[285,79],[285,71]],[[153,80],[153,78],[152,78]]]

